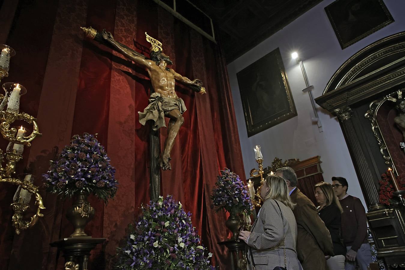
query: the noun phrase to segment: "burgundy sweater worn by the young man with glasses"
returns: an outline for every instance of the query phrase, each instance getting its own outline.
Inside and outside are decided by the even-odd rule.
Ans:
[[[339,201],[342,208],[342,238],[346,247],[357,251],[367,243],[367,217],[359,198],[351,195]]]

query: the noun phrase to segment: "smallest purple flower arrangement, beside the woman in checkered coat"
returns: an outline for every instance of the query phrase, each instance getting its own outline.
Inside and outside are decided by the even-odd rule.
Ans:
[[[244,212],[246,215],[252,213],[252,200],[249,191],[239,175],[224,168],[217,176],[217,182],[211,193],[211,208],[215,212],[226,210],[230,215],[237,215]]]

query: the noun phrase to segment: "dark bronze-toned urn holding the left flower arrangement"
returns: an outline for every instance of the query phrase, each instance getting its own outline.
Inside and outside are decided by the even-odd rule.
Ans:
[[[88,196],[89,193],[81,191],[77,195],[72,206],[66,210],[66,218],[75,228],[69,237],[87,236],[87,234],[84,232],[84,228],[86,227],[87,223],[93,219],[95,213],[94,208],[90,206],[90,203],[87,201]]]

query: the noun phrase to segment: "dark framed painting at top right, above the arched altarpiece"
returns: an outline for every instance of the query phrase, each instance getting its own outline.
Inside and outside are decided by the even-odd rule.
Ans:
[[[337,0],[325,11],[342,49],[394,22],[383,0]]]

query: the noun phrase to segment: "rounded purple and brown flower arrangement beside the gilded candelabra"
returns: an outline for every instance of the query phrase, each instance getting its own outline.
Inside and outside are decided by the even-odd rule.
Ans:
[[[117,191],[115,168],[94,135],[74,135],[57,160],[50,161],[43,182],[47,190],[64,196],[78,192],[93,193],[107,204]]]

